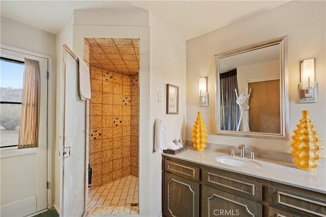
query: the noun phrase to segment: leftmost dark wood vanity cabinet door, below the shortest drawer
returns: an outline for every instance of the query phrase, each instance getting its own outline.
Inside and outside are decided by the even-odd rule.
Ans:
[[[165,172],[165,216],[199,216],[199,183]]]

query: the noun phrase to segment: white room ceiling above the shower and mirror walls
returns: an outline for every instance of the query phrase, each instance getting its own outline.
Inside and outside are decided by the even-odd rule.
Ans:
[[[289,1],[0,1],[1,16],[58,34],[75,9],[148,10],[185,40]]]

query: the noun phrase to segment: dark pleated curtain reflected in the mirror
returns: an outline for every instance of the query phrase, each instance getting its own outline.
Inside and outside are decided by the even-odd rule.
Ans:
[[[236,131],[239,111],[236,104],[235,89],[238,89],[236,69],[221,73],[221,130]]]

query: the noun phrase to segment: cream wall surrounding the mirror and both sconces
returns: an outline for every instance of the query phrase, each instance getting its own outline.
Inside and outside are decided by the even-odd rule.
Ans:
[[[293,1],[261,14],[216,29],[187,41],[187,130],[191,138],[197,111],[207,126],[208,142],[247,146],[289,152],[290,140],[255,139],[215,135],[215,54],[288,36],[289,72],[289,136],[302,118],[302,110],[310,110],[319,138],[326,137],[325,108],[325,2]],[[299,104],[298,83],[300,61],[315,58],[318,102]],[[208,77],[209,106],[199,107],[198,78]],[[323,151],[324,152],[324,151]]]

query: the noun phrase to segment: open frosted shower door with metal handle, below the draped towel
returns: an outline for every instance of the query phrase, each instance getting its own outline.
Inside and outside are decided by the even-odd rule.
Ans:
[[[82,216],[86,189],[86,101],[79,96],[77,58],[66,45],[63,52],[60,216]]]

